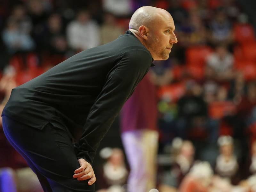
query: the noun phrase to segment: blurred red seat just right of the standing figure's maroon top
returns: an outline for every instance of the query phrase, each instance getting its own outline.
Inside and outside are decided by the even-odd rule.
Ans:
[[[168,99],[170,101],[177,101],[185,93],[185,84],[176,83],[162,86],[158,89],[158,97],[161,99]]]

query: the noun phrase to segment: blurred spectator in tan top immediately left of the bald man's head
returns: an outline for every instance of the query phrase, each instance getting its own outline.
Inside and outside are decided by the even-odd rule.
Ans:
[[[100,27],[100,44],[114,41],[123,33],[123,29],[116,24],[116,17],[111,13],[105,13],[103,24]]]

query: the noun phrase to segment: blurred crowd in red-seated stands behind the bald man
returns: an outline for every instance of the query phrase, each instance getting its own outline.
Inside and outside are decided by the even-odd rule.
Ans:
[[[157,95],[156,188],[256,191],[255,26],[236,0],[3,1],[0,111],[12,88],[116,39],[144,5],[170,12],[178,38],[170,58],[154,61],[148,74]],[[124,152],[107,148],[100,156],[99,192],[124,191]],[[0,157],[0,191],[41,190],[1,128]]]

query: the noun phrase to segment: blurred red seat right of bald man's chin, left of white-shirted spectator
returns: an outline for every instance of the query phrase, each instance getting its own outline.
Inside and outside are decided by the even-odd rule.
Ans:
[[[186,50],[186,61],[189,65],[204,66],[206,57],[212,53],[208,46],[189,47]]]

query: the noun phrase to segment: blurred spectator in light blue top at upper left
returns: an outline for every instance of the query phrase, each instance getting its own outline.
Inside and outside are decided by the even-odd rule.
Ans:
[[[11,54],[31,51],[35,47],[33,39],[27,33],[22,33],[19,29],[18,22],[12,18],[7,21],[7,26],[3,31],[2,37]]]

